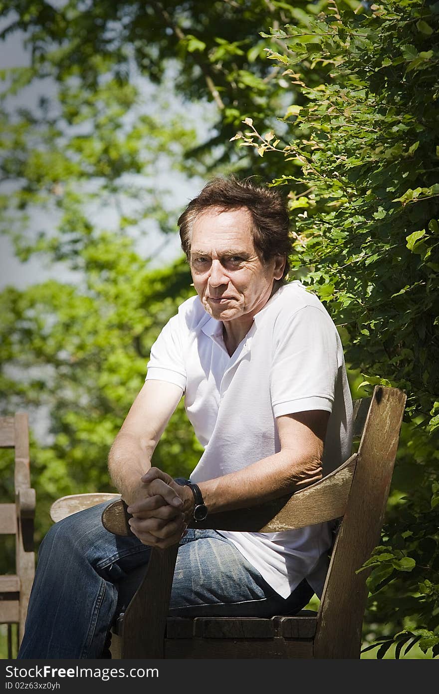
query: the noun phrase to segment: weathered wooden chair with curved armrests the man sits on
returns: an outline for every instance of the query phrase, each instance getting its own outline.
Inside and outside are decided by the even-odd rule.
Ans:
[[[356,570],[379,543],[405,402],[402,391],[375,387],[372,398],[354,403],[359,448],[336,471],[291,496],[212,514],[196,524],[216,530],[279,532],[339,519],[318,612],[269,619],[169,618],[175,545],[153,550],[139,589],[114,625],[112,657],[359,658],[368,571]],[[53,505],[58,517],[68,515],[61,510],[63,503]],[[102,519],[110,532],[130,533],[120,496],[115,495]]]

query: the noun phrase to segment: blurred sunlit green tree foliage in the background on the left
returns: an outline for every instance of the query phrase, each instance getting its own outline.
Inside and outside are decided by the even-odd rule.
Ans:
[[[275,175],[252,148],[243,158],[230,142],[243,117],[271,126],[284,114],[286,83],[261,60],[277,39],[259,32],[287,19],[307,24],[308,12],[327,4],[2,3],[1,37],[24,36],[32,60],[0,74],[0,228],[21,260],[40,254],[82,278],[0,297],[3,412],[49,413],[49,439],[33,448],[38,536],[51,500],[107,489],[107,451],[141,387],[150,344],[192,291],[182,262],[150,271],[139,240],[157,227],[175,233],[178,171]],[[40,100],[14,110],[13,96],[28,85]],[[200,98],[212,119],[205,142],[185,108]],[[199,455],[179,409],[157,464],[172,473],[184,458],[189,471]]]

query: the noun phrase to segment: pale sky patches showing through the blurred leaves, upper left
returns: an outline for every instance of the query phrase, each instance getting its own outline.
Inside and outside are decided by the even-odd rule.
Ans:
[[[0,30],[9,24],[9,22],[9,19],[8,21],[4,19],[1,21],[0,19]],[[29,60],[29,54],[23,46],[22,36],[20,34],[14,33],[4,42],[0,42],[0,69],[26,66],[29,65]],[[47,81],[44,81],[44,85],[42,85],[42,83],[37,83],[27,87],[26,90],[23,90],[15,97],[11,105],[14,107],[21,105],[32,107],[32,105],[37,103],[37,99],[43,87],[45,94],[47,94],[48,91],[49,93],[52,92],[55,94],[54,86],[48,85]],[[145,85],[145,88],[147,89],[147,85]],[[144,96],[148,99],[148,94]],[[179,107],[181,108],[181,104],[176,97],[174,97],[174,103],[176,110],[178,110]],[[185,106],[185,108],[187,108],[187,106]],[[205,135],[207,135],[209,122],[211,121],[210,116],[213,116],[213,109],[214,106],[207,103],[198,106],[193,105],[189,109],[191,111],[189,116],[193,115],[193,117],[197,119],[200,127],[205,129]],[[201,110],[203,111],[203,117],[200,117]],[[203,137],[203,133],[200,133],[200,135]],[[183,174],[173,173],[172,184],[173,207],[182,210],[203,186],[203,180],[189,181]],[[1,192],[5,192],[4,185],[3,183],[3,187],[0,187]],[[163,170],[158,172],[157,185],[169,186],[169,172],[166,167],[163,167]],[[112,216],[111,210],[108,208],[105,210],[102,208],[98,210],[98,219],[100,226],[106,226],[107,228],[114,226],[114,215]],[[56,220],[51,217],[51,215],[44,214],[41,210],[33,210],[33,230],[50,230],[55,226],[55,223]],[[150,257],[151,255],[155,256],[155,260],[151,262],[151,266],[167,264],[182,254],[180,239],[177,233],[175,236],[165,239],[162,233],[155,228],[154,224],[150,223],[147,227],[147,233],[142,236],[143,240],[139,242],[137,251],[140,255],[144,255],[144,257]],[[20,262],[17,257],[15,257],[14,248],[10,239],[0,234],[0,290],[7,285],[23,289],[28,285],[33,285],[35,282],[42,282],[48,278],[57,278],[64,282],[78,282],[80,280],[78,273],[71,271],[62,264],[49,263],[42,257],[33,256],[25,263]]]

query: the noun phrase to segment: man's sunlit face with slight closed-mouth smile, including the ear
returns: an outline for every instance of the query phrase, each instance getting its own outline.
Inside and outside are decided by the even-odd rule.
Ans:
[[[268,301],[284,259],[262,263],[252,238],[247,208],[210,208],[193,224],[191,273],[205,310],[220,321],[251,320]]]

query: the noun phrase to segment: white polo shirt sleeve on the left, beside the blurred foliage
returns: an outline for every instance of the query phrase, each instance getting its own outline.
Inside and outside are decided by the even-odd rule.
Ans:
[[[184,366],[179,316],[173,316],[151,347],[145,380],[175,383],[184,392],[186,368]]]

